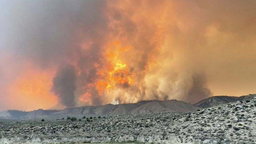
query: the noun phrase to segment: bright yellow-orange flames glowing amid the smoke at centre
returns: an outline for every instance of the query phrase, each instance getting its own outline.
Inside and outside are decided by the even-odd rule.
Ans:
[[[100,67],[95,63],[94,67],[97,68],[97,75],[99,78],[94,84],[88,84],[87,87],[95,86],[100,96],[108,95],[118,88],[128,88],[132,85],[135,74],[131,72],[130,66],[125,63],[122,56],[129,48],[122,47],[120,42],[115,41],[107,47],[104,56],[104,66]],[[92,89],[92,88],[89,88]],[[82,101],[90,101],[92,94],[86,92],[80,96]]]

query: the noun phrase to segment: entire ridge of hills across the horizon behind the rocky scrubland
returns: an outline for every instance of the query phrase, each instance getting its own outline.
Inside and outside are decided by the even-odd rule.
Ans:
[[[106,104],[101,106],[81,106],[74,108],[64,108],[62,110],[43,110],[33,111],[6,110],[0,111],[2,119],[28,119],[37,117],[63,118],[68,116],[114,116],[123,114],[147,114],[152,112],[189,112],[201,108],[208,108],[229,102],[252,99],[256,94],[249,94],[240,97],[234,96],[212,96],[197,102],[196,104],[187,103],[181,100],[142,100],[137,103],[126,104]]]

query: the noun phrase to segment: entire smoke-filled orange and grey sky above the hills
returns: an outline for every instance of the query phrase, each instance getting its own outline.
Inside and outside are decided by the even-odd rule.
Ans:
[[[255,0],[2,0],[0,110],[256,93]]]

